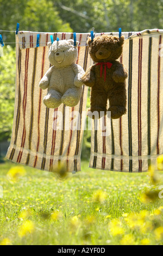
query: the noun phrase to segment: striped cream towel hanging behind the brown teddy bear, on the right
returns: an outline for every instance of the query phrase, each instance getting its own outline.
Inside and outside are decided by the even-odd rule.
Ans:
[[[90,167],[145,172],[163,154],[163,31],[129,33],[120,61],[128,70],[127,114],[92,121]],[[103,136],[106,123],[110,135]],[[108,131],[109,134],[109,131]]]

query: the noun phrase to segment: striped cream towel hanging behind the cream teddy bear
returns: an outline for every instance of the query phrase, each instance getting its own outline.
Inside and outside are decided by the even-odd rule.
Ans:
[[[47,42],[52,33],[40,33],[40,46],[36,47],[35,32],[18,32],[16,35],[16,92],[14,123],[7,159],[37,169],[52,171],[58,161],[66,164],[67,170],[80,170],[83,130],[85,121],[87,87],[83,86],[80,102],[76,107],[61,105],[49,109],[43,104],[47,90],[39,88],[39,82],[49,69]],[[72,39],[73,33],[54,33],[54,40]],[[77,34],[79,40],[77,64],[84,70],[89,63],[86,47],[87,34]],[[84,41],[84,46],[81,42]],[[69,113],[68,113],[69,111]],[[75,117],[73,113],[79,113]],[[59,118],[59,114],[62,118]],[[66,128],[66,117],[70,126],[76,122],[77,129]],[[63,129],[56,129],[58,123]]]

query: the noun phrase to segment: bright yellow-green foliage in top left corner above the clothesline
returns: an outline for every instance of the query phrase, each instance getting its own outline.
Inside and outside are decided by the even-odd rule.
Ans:
[[[67,21],[62,21],[52,1],[48,0],[0,0],[0,30],[15,31],[17,22],[20,31],[72,32]],[[6,42],[15,41],[15,33],[3,33]]]

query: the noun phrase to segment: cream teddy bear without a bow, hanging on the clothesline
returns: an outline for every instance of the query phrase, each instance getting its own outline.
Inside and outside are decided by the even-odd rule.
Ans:
[[[58,108],[61,103],[73,107],[80,100],[83,86],[81,77],[85,72],[75,64],[78,43],[74,46],[72,39],[54,41],[53,44],[48,42],[48,59],[52,66],[39,83],[43,90],[48,88],[48,94],[43,99],[48,108]]]

